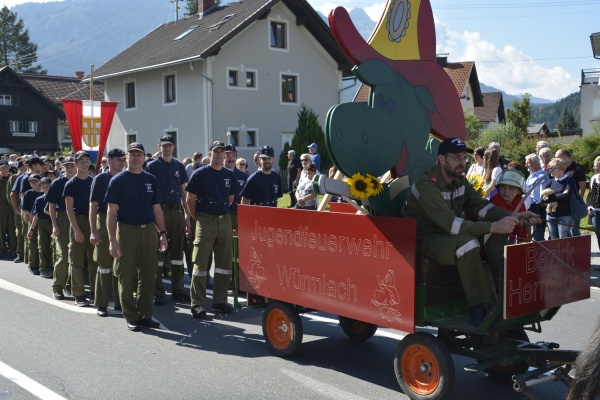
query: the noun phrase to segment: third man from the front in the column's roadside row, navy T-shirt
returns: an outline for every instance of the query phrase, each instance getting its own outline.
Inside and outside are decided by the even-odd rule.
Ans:
[[[81,150],[75,153],[77,174],[65,184],[63,196],[67,216],[71,223],[69,230],[69,272],[71,273],[71,290],[75,297],[75,305],[87,307],[89,302],[85,296],[84,266],[87,257],[88,277],[90,283],[90,299],[94,298],[96,272],[98,264],[94,261],[94,246],[90,243],[90,193],[92,181],[88,175],[90,156]]]

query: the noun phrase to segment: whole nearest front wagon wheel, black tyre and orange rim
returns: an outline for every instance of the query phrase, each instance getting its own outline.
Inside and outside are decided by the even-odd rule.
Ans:
[[[436,337],[417,332],[398,344],[394,371],[402,391],[411,399],[444,399],[454,385],[454,362]]]

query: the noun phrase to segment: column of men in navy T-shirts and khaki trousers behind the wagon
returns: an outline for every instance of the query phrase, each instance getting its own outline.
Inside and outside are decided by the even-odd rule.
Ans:
[[[54,180],[40,175],[46,162],[39,157],[24,159],[27,169],[13,176],[8,163],[0,161],[0,231],[14,261],[52,279],[55,299],[72,294],[76,306],[93,303],[101,317],[108,315],[112,288],[114,309],[123,312],[131,331],[160,326],[152,315],[154,305],[165,304],[167,251],[172,300],[191,302],[194,318],[206,316],[214,254],[212,309],[230,313],[237,204],[276,207],[283,195],[281,177],[272,170],[272,147],[260,148],[260,168],[250,177],[235,166],[235,146],[221,141],[212,143],[210,162],[195,164],[189,178],[173,157],[172,136],[160,138],[158,149],[149,162],[141,143],[129,144],[127,151],[112,149],[108,169],[94,178],[88,175],[91,159],[85,151],[64,158],[62,174]],[[14,216],[15,229],[5,214]],[[188,251],[190,294],[184,288]]]

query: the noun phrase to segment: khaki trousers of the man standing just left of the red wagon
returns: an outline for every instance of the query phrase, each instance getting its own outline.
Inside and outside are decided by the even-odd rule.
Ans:
[[[190,290],[192,307],[205,306],[206,282],[208,280],[208,270],[210,269],[209,260],[213,251],[215,257],[213,304],[226,303],[233,258],[233,234],[230,215],[198,213],[194,247],[194,272],[192,273]]]

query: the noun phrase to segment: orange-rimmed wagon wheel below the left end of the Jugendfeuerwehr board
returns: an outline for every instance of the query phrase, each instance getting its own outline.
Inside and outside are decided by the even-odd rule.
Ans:
[[[302,321],[294,307],[279,301],[270,303],[263,314],[263,335],[271,351],[290,357],[302,343]]]

